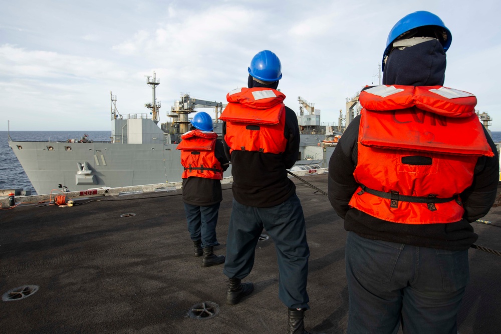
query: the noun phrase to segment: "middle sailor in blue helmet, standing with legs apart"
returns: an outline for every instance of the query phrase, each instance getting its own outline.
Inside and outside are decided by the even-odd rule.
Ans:
[[[259,52],[248,74],[248,88],[228,93],[220,117],[234,198],[223,270],[229,278],[226,303],[236,304],[253,291],[253,283],[241,279],[254,266],[256,245],[265,229],[277,250],[279,298],[289,308],[288,333],[303,334],[310,250],[303,208],[287,175],[299,152],[298,119],[277,90],[282,65],[275,53]]]

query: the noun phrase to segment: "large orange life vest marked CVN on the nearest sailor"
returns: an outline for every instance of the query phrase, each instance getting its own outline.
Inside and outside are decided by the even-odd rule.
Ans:
[[[461,220],[459,194],[479,156],[492,157],[474,95],[442,86],[376,86],[360,93],[360,187],[349,205],[405,224]]]

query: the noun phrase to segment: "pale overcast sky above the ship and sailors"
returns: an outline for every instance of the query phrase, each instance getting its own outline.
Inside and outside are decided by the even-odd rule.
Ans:
[[[282,62],[279,88],[338,123],[346,98],[378,84],[393,25],[425,10],[451,31],[445,86],[477,96],[501,131],[501,2],[477,1],[2,1],[0,130],[111,130],[110,91],[122,115],[146,113],[156,72],[160,122],[181,92],[226,103],[246,87],[261,50]]]

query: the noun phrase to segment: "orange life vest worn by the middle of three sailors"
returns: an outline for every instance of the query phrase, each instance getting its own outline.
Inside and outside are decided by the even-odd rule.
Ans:
[[[219,117],[226,121],[224,141],[237,151],[283,153],[287,146],[285,95],[271,88],[241,88],[229,92]]]

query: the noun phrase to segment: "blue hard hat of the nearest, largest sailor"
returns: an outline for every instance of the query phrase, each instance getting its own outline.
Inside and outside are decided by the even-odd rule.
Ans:
[[[435,28],[435,34],[437,39],[442,44],[443,51],[446,52],[450,43],[452,42],[452,35],[450,31],[445,27],[443,21],[433,13],[426,11],[418,11],[411,13],[409,15],[404,16],[400,21],[398,21],[393,28],[390,30],[388,34],[388,39],[386,40],[386,49],[384,49],[383,54],[383,62],[382,62],[382,70],[384,71],[384,59],[386,56],[390,54],[393,42],[395,40],[400,39],[400,37],[404,37],[405,33],[410,32],[413,29],[420,27],[429,27]],[[409,36],[410,37],[410,36]],[[422,36],[418,36],[422,37]],[[434,37],[434,36],[425,36],[425,37]],[[405,39],[406,37],[404,37]]]

